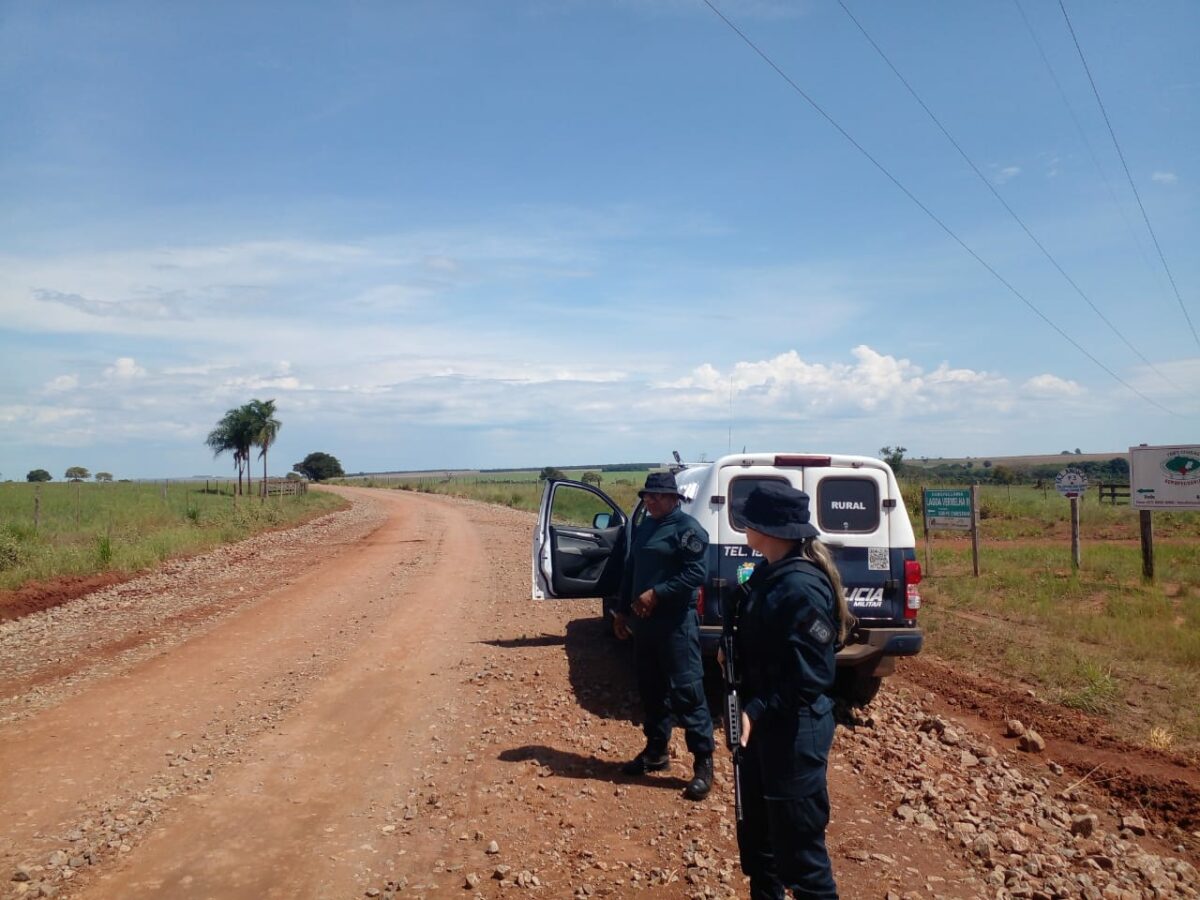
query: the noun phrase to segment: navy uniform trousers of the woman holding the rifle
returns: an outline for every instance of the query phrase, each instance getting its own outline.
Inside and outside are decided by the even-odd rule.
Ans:
[[[822,697],[811,709],[750,731],[742,754],[738,847],[751,900],[781,900],[786,889],[803,900],[838,898],[824,842],[834,732],[827,703]]]

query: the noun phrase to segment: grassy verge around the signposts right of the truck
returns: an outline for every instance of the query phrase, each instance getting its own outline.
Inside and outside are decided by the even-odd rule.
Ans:
[[[968,547],[935,545],[926,652],[1034,685],[1135,743],[1200,752],[1200,540],[1156,545],[1154,583],[1136,545],[1081,556],[1076,572],[1069,545],[986,542],[976,578]]]

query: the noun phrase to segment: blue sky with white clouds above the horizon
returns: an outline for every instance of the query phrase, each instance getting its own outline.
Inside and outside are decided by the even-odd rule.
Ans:
[[[1110,328],[835,0],[714,4],[1094,360],[702,0],[0,0],[0,476],[1200,439],[1200,5],[1067,2],[1181,308],[1056,1],[846,0]]]

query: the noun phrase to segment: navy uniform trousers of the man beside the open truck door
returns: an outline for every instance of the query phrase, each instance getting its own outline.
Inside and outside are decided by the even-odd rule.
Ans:
[[[634,623],[637,692],[646,721],[646,746],[666,752],[672,722],[684,730],[694,756],[712,756],[713,718],[704,697],[704,665],[700,656],[700,617],[688,608],[671,628]]]

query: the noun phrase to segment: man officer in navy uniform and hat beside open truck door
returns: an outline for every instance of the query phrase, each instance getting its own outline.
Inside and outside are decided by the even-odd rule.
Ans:
[[[613,630],[634,636],[646,749],[626,775],[666,769],[672,720],[685,733],[692,779],[684,794],[702,800],[713,786],[713,719],[704,697],[696,592],[708,575],[708,533],[679,509],[670,472],[652,472],[638,491],[646,516],[634,530]]]

